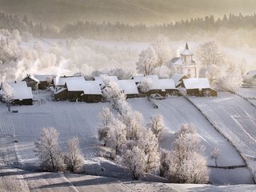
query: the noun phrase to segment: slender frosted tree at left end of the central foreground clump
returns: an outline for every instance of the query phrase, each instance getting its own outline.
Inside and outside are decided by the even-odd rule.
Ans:
[[[104,107],[102,112],[99,114],[100,124],[98,126],[98,140],[104,142],[106,146],[107,133],[110,130],[110,123],[114,120],[114,114],[109,108]]]

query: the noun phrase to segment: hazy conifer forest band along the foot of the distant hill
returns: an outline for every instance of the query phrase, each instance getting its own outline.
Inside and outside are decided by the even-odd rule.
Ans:
[[[122,22],[90,22],[78,21],[66,23],[64,26],[54,26],[32,22],[26,15],[23,18],[17,15],[0,13],[0,28],[7,30],[28,31],[35,37],[42,38],[96,38],[114,40],[146,41],[158,34],[169,38],[182,37],[187,33],[194,34],[200,30],[214,32],[222,28],[237,30],[252,30],[256,28],[256,14],[225,14],[222,18],[213,15],[205,18],[190,18],[177,22],[163,23],[162,25],[146,26],[141,23],[130,25]]]

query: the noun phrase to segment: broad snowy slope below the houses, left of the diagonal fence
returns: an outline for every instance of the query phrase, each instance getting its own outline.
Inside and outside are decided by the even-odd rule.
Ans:
[[[225,95],[223,97],[225,98]],[[47,92],[34,94],[34,98],[47,98],[46,104],[38,105],[36,102],[34,106],[13,106],[12,109],[18,110],[18,114],[7,112],[6,106],[0,103],[0,163],[36,170],[38,160],[34,152],[34,142],[38,140],[42,127],[54,126],[60,133],[59,142],[63,150],[66,150],[68,139],[78,137],[82,152],[88,159],[87,170],[95,171],[102,167],[104,171],[101,173],[95,171],[95,174],[114,178],[128,177],[126,170],[115,166],[112,162],[97,158],[97,152],[102,148],[97,138],[98,113],[104,106],[110,107],[108,103],[52,102],[50,93]],[[202,99],[204,102],[206,98],[198,99]],[[214,166],[210,153],[215,147],[220,149],[218,166],[242,166],[232,170],[211,168],[210,181],[212,183],[253,183],[250,171],[246,168],[238,151],[185,98],[170,97],[166,100],[156,101],[158,109],[154,109],[152,103],[146,98],[132,98],[127,101],[134,110],[142,112],[146,122],[151,116],[162,114],[168,128],[162,139],[161,146],[163,148],[171,149],[171,139],[174,138],[174,133],[182,123],[193,123],[202,138],[202,144],[206,146],[205,154],[208,165]],[[250,113],[254,113],[254,111],[250,111]],[[226,115],[229,116],[229,114]],[[240,120],[242,121],[242,119]],[[238,121],[240,120],[238,119]],[[228,118],[222,121],[229,123],[226,122]],[[241,123],[250,126],[250,123]],[[255,135],[255,131],[251,130],[251,134]],[[15,140],[18,142],[14,142]]]

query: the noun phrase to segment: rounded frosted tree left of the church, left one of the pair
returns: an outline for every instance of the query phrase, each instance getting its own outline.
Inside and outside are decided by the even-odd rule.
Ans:
[[[139,54],[136,69],[140,74],[152,74],[154,68],[158,65],[158,58],[153,46],[149,46],[146,50],[142,50]]]

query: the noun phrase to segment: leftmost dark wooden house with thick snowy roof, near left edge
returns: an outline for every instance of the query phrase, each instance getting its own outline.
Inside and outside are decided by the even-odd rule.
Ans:
[[[14,90],[13,104],[14,105],[33,105],[33,94],[31,87],[26,85],[26,82],[7,82]],[[0,90],[3,94],[3,89]]]

